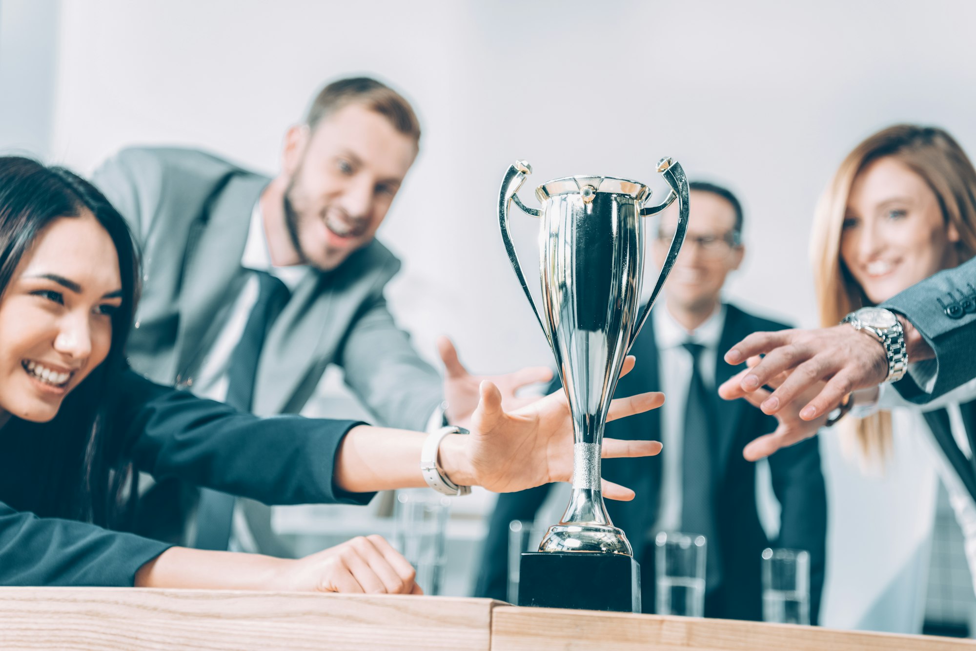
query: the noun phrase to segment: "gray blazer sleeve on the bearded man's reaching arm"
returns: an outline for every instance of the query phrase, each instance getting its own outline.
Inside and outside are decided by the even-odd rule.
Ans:
[[[340,364],[346,384],[386,427],[423,432],[443,401],[440,375],[397,327],[382,293],[360,309]]]

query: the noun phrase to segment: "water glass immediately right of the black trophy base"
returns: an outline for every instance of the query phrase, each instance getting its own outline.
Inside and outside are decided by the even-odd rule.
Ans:
[[[659,615],[705,615],[705,536],[662,531],[654,539],[655,611]]]

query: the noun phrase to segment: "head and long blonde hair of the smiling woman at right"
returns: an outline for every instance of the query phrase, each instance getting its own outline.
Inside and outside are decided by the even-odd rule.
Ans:
[[[976,170],[941,129],[898,125],[874,134],[834,174],[811,246],[821,324],[835,325],[973,257]],[[881,392],[881,406],[905,403]],[[878,394],[858,392],[855,404],[877,402]],[[886,410],[847,419],[841,430],[869,463],[882,462],[890,450]]]

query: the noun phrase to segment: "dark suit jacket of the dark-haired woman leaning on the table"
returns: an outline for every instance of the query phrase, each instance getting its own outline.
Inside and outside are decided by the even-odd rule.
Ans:
[[[109,420],[124,434],[116,452],[156,478],[269,504],[364,504],[373,496],[332,484],[336,452],[353,421],[260,419],[132,372]],[[0,585],[132,586],[137,570],[170,545],[38,513],[37,487],[50,464],[31,425],[12,419],[0,428]]]

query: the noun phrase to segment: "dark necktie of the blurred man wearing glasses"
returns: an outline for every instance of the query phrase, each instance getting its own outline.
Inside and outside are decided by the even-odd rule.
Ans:
[[[715,408],[699,369],[699,358],[705,346],[687,342],[684,349],[691,355],[691,382],[684,408],[684,445],[681,460],[681,530],[702,534],[706,547],[706,591],[712,591],[721,580],[718,537],[714,515],[714,470],[712,436]]]

